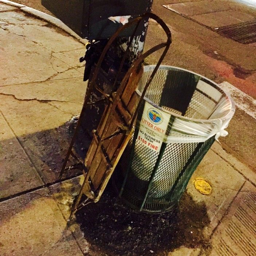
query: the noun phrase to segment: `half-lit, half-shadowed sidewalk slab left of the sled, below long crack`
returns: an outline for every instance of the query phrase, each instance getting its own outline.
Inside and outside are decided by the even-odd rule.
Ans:
[[[76,102],[16,100],[0,94],[0,110],[45,183],[58,179],[73,132],[69,120],[81,108]]]

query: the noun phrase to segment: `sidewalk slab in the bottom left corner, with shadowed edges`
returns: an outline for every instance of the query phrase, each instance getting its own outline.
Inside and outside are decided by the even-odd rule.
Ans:
[[[0,203],[1,255],[82,256],[47,188]]]

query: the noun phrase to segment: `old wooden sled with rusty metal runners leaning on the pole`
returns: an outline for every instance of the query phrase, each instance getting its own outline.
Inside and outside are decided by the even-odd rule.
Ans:
[[[135,122],[136,115],[139,111],[143,97],[146,94],[147,88],[154,78],[156,71],[158,70],[164,56],[170,47],[171,32],[166,24],[163,23],[163,21],[158,16],[152,13],[146,13],[145,15],[135,20],[136,22],[140,22],[145,18],[155,19],[156,22],[162,26],[167,34],[167,42],[158,44],[152,49],[148,50],[146,53],[140,55],[140,57],[133,63],[131,68],[125,74],[115,95],[112,95],[112,98],[109,101],[104,114],[102,115],[97,130],[93,131],[93,140],[85,159],[87,172],[84,173],[85,179],[79,195],[71,209],[70,217],[74,212],[76,212],[84,205],[88,204],[89,202],[97,202],[100,199],[116,167],[116,164],[118,163],[129,139],[132,136],[133,124]],[[133,24],[135,20],[131,21],[131,23]],[[126,25],[128,26],[129,23]],[[112,43],[117,35],[124,29],[124,27],[119,29],[117,33],[112,36],[109,42]],[[108,47],[110,47],[111,43],[106,45],[98,62],[97,68],[95,69],[92,82],[94,84],[94,88],[96,89],[97,85],[95,84],[95,81],[97,73],[99,71],[99,67],[104,58],[104,55],[107,52]],[[164,48],[164,51],[144,87],[143,93],[139,98],[139,102],[137,102],[138,96],[136,95],[135,90],[137,83],[139,82],[140,75],[143,72],[141,64],[146,57],[162,48]],[[80,203],[82,194],[85,194],[87,198],[85,201]]]

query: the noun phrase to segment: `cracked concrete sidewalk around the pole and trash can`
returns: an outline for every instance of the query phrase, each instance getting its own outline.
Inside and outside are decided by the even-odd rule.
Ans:
[[[68,33],[55,26],[58,21],[54,18],[41,16],[24,5],[3,2],[0,1],[0,256],[120,255],[120,248],[110,249],[108,244],[102,244],[100,234],[94,239],[84,232],[88,220],[84,219],[84,233],[78,224],[67,227],[70,206],[83,177],[71,172],[65,181],[58,181],[72,134],[69,121],[79,115],[86,90],[86,83],[82,82],[84,67],[79,63],[85,40],[61,23],[59,26]],[[149,35],[157,40],[155,25],[151,26]],[[182,33],[173,32],[174,40],[184,46]],[[173,61],[168,57],[164,64],[184,67],[182,62],[188,61],[192,52],[201,61],[201,66],[197,63],[195,67],[198,70],[193,71],[211,79],[217,77],[208,57],[198,49],[186,49],[174,45],[169,54],[177,57]],[[246,66],[247,61],[241,59]],[[247,117],[244,110],[237,111],[250,121],[246,125],[255,126],[252,116]],[[237,120],[230,123],[230,130],[236,129]],[[248,142],[247,147],[251,147]],[[244,159],[238,151],[237,155]],[[182,200],[179,206],[184,216],[177,225],[182,226],[182,220],[190,224],[177,231],[186,243],[170,236],[170,244],[163,244],[159,250],[148,245],[143,255],[256,254],[256,174],[251,162],[249,167],[237,158],[214,143],[187,187],[185,197],[191,199],[190,205]],[[202,195],[195,190],[193,182],[197,178],[210,183],[212,194]],[[196,214],[202,219],[196,219]],[[113,227],[109,229],[115,232]],[[129,255],[136,255],[132,249]]]

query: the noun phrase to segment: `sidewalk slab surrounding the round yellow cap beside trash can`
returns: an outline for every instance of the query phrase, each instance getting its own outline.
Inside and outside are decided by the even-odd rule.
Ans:
[[[223,173],[225,173],[225,177],[223,177]],[[198,178],[207,181],[211,185],[212,193],[210,195],[203,195],[195,189],[193,181]],[[203,202],[206,205],[207,215],[210,219],[210,224],[204,230],[206,237],[212,234],[244,182],[243,175],[234,171],[229,163],[212,150],[207,152],[187,186],[187,192],[194,201]]]

